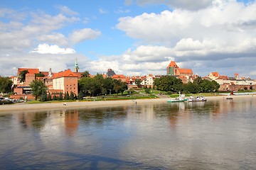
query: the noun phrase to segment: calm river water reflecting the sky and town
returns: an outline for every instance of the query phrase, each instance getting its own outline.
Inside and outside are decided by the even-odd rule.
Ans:
[[[1,113],[0,169],[256,169],[255,111],[256,96]]]

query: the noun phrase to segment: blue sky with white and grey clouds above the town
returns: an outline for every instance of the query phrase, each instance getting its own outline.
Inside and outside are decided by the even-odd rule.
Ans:
[[[40,71],[166,74],[174,60],[256,79],[256,1],[0,0],[0,75]]]

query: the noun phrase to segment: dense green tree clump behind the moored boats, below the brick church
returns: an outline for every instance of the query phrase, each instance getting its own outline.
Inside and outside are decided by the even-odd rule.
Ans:
[[[216,81],[209,81],[197,77],[193,83],[183,84],[181,79],[172,76],[165,76],[154,79],[154,88],[160,91],[169,91],[170,93],[178,93],[181,91],[185,94],[197,94],[203,92],[215,92],[220,88],[220,84]]]

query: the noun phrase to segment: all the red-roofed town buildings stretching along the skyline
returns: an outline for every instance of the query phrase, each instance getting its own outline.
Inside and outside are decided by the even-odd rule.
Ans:
[[[26,71],[26,77],[23,82],[20,82],[18,76],[21,72]],[[39,76],[40,75],[40,76]],[[194,79],[198,77],[197,74],[193,74],[192,69],[179,68],[176,62],[171,61],[166,67],[166,75],[177,77],[181,79],[184,84],[188,82],[193,82]],[[111,77],[112,79],[120,79],[123,82],[127,83],[129,89],[137,89],[138,86],[135,83],[136,79],[141,81],[142,86],[147,86],[148,88],[153,88],[154,79],[159,78],[163,75],[152,75],[147,74],[146,76],[132,76],[127,77],[124,74],[115,74],[114,70],[108,69],[106,74],[102,74],[103,77]],[[26,98],[33,98],[31,94],[31,87],[29,84],[35,79],[40,79],[48,87],[48,93],[51,95],[67,93],[78,96],[78,79],[82,77],[82,72],[79,72],[78,62],[75,60],[75,67],[73,72],[70,69],[65,69],[61,72],[52,72],[52,69],[49,72],[41,72],[39,69],[35,68],[18,68],[17,75],[11,77],[13,81],[13,91],[14,96],[11,98],[21,98],[25,95]],[[93,75],[90,75],[93,77]],[[221,76],[218,72],[211,72],[207,77],[203,79],[215,80],[220,84],[220,91],[227,90],[239,90],[239,89],[255,89],[256,81],[251,80],[250,78],[238,77],[238,74],[235,74],[235,77]]]

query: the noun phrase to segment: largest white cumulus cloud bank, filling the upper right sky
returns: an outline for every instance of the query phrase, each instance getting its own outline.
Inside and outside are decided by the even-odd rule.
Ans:
[[[179,57],[211,53],[255,53],[256,3],[215,1],[199,11],[174,9],[119,18],[129,37],[171,47]],[[174,56],[175,57],[175,56]]]

